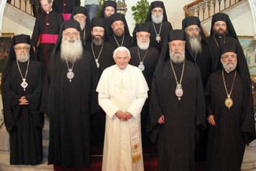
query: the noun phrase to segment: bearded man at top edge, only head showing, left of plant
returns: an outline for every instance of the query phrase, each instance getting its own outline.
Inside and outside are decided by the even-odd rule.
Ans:
[[[116,13],[116,1],[105,1],[101,8],[99,17],[108,20],[114,13]]]

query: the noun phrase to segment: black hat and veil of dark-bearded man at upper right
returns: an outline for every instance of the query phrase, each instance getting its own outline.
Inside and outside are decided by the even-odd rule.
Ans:
[[[234,29],[234,26],[233,26],[231,20],[229,19],[229,16],[227,14],[224,14],[221,12],[213,15],[213,18],[211,19],[210,35],[213,35],[213,25],[215,22],[218,22],[218,21],[226,22],[226,25],[228,28],[228,36],[231,36],[231,37],[235,38],[236,40],[238,40],[237,35],[236,35],[236,30]]]

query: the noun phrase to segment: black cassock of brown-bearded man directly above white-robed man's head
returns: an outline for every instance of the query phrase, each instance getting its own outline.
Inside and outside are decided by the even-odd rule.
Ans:
[[[119,44],[119,46],[124,46],[126,48],[130,48],[131,44],[132,44],[132,37],[130,35],[124,35],[124,42],[122,44],[122,36],[116,36],[116,40]],[[108,36],[108,43],[112,44],[112,46],[114,47],[114,49],[118,48],[118,44],[116,43],[116,40],[114,39],[114,35],[109,35]]]

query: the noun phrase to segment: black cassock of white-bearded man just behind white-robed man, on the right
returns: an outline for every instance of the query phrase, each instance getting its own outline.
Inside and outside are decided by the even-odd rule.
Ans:
[[[130,51],[130,55],[132,56],[130,58],[129,64],[138,67],[140,64],[140,58],[139,58],[137,46],[130,48],[129,51]],[[147,50],[140,49],[139,51],[140,51],[140,57],[142,60]],[[147,120],[148,120],[148,109],[149,109],[149,102],[150,102],[151,83],[152,83],[153,73],[155,71],[155,67],[158,62],[158,59],[159,59],[158,50],[149,46],[147,55],[143,60],[143,65],[145,65],[145,70],[142,71],[149,88],[148,99],[145,101],[145,104],[142,108],[142,112],[140,112],[143,146],[147,146],[151,144],[150,140],[147,137]]]

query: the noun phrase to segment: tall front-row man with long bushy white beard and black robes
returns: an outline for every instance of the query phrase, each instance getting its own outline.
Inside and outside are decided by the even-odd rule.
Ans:
[[[45,75],[41,111],[49,115],[49,164],[54,169],[83,169],[90,164],[90,114],[98,111],[98,73],[83,50],[80,24],[62,24]]]

